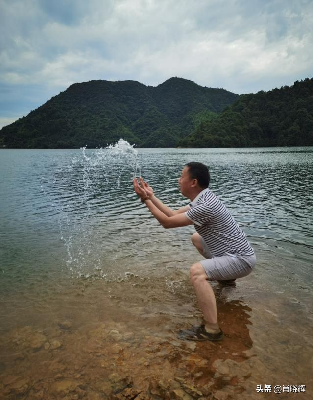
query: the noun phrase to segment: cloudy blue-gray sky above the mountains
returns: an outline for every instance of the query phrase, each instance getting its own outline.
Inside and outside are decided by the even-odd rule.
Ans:
[[[92,79],[291,85],[312,44],[313,0],[0,0],[0,128]]]

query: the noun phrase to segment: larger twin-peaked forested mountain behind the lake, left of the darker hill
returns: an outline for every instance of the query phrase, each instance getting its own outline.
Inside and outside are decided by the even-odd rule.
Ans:
[[[0,130],[8,148],[105,146],[120,138],[138,147],[174,147],[239,96],[170,78],[157,87],[136,81],[71,85]]]

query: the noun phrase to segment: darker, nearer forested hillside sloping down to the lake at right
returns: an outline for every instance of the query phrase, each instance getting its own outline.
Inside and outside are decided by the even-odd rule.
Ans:
[[[210,115],[183,147],[313,146],[313,79],[269,92],[243,94]]]

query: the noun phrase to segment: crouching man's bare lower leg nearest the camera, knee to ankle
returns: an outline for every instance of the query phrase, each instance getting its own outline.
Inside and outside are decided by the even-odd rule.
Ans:
[[[191,267],[190,278],[203,313],[206,331],[210,333],[219,332],[215,295],[208,282],[208,276],[199,262]]]

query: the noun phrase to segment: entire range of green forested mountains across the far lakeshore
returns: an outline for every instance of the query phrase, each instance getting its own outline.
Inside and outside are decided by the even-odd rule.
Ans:
[[[76,83],[0,130],[8,148],[313,145],[313,79],[238,96],[170,78]]]

